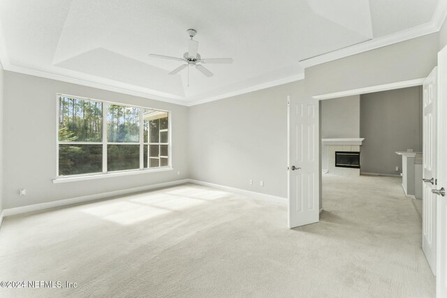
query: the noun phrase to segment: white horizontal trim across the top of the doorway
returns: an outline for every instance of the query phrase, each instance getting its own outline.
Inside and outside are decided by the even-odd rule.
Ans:
[[[316,95],[316,96],[312,96],[312,97],[315,99],[318,99],[318,100],[325,100],[325,99],[340,98],[340,97],[353,96],[353,95],[359,95],[359,94],[368,94],[368,93],[379,92],[379,91],[402,89],[402,88],[407,88],[407,87],[420,86],[424,83],[424,80],[425,80],[425,77],[421,77],[419,79],[414,79],[414,80],[394,82],[394,83],[390,83],[390,84],[381,84],[381,85],[376,85],[376,86],[334,92],[334,93],[330,93],[330,94],[321,94],[321,95]]]

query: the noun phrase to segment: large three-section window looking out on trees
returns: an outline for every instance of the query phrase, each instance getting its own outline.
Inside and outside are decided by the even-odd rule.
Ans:
[[[58,177],[170,167],[169,112],[57,98]]]

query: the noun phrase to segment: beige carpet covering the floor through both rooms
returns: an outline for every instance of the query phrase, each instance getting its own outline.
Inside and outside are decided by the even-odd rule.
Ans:
[[[178,186],[6,218],[0,297],[434,297],[420,218],[398,179],[324,175],[321,222],[286,204]]]

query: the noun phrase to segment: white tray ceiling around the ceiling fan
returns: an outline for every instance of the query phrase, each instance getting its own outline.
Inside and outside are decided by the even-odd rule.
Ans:
[[[443,1],[443,0],[439,0]],[[57,75],[193,103],[298,80],[299,61],[432,22],[438,0],[1,0],[6,69]],[[203,58],[168,75],[198,31]],[[32,70],[32,71],[31,71]]]

